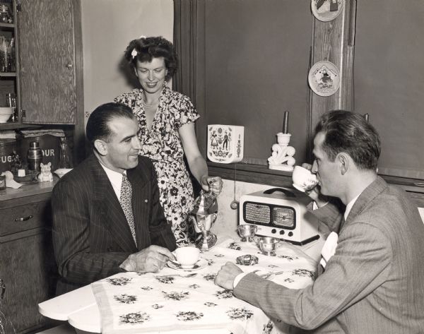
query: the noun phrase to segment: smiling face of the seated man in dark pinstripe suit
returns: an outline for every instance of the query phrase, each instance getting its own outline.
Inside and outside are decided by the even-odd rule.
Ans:
[[[139,124],[136,119],[115,117],[109,122],[113,134],[105,143],[107,154],[105,162],[108,168],[122,173],[139,164],[139,150],[141,148],[137,130]]]

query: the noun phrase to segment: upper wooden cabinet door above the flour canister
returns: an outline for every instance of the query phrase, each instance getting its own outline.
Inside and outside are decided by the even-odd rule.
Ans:
[[[71,0],[21,0],[18,13],[24,123],[75,124]]]

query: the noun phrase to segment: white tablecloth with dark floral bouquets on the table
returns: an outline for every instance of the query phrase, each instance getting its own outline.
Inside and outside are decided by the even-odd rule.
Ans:
[[[193,271],[163,268],[160,273],[122,273],[91,286],[101,315],[102,333],[292,333],[274,323],[260,309],[243,302],[213,283],[227,261],[241,255],[257,256],[253,266],[240,266],[293,289],[310,285],[316,263],[294,246],[281,242],[276,256],[262,255],[254,242],[228,239],[204,251],[208,265]],[[196,274],[196,275],[190,275]]]

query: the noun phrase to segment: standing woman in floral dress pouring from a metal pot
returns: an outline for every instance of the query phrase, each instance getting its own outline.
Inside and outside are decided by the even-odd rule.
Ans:
[[[205,191],[220,193],[223,181],[220,177],[208,177],[208,166],[194,133],[194,121],[199,114],[192,101],[165,85],[177,70],[172,43],[163,37],[140,37],[129,43],[124,56],[134,68],[141,89],[119,95],[114,101],[131,107],[139,120],[140,154],[153,161],[167,221],[177,244],[189,244],[187,216],[194,196],[183,156]]]

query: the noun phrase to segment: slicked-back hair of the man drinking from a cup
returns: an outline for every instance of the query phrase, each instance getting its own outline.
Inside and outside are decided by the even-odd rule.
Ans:
[[[330,161],[344,152],[359,169],[377,168],[381,152],[379,134],[363,115],[344,110],[327,112],[315,128],[315,134],[319,132],[325,134],[322,149]]]

